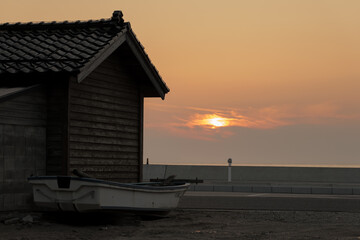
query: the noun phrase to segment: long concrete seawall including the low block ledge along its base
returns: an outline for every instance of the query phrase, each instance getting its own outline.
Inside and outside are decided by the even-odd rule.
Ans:
[[[190,191],[360,195],[359,168],[144,165],[143,177],[199,179]]]

